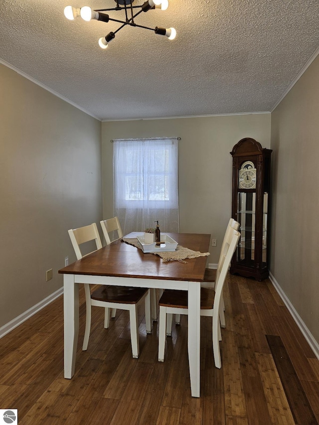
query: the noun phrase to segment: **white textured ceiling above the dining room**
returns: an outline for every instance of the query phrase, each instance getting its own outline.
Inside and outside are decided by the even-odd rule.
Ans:
[[[68,4],[115,6],[0,0],[0,59],[101,120],[271,111],[319,48],[319,0],[170,0],[135,22],[175,40],[127,26],[106,50],[120,24],[69,21]]]

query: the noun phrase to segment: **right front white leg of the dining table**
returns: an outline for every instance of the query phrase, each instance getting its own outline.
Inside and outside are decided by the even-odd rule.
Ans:
[[[188,283],[188,361],[192,397],[200,397],[200,283]]]

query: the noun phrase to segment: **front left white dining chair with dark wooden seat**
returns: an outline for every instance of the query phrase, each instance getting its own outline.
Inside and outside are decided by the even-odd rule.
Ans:
[[[70,229],[68,231],[76,258],[81,260],[83,257],[92,254],[94,251],[102,248],[100,235],[96,223],[88,226]],[[80,245],[95,241],[96,250],[82,255]],[[90,329],[91,329],[91,307],[92,305],[104,307],[104,327],[108,328],[110,324],[110,308],[119,308],[130,312],[130,328],[131,328],[131,344],[132,354],[134,358],[139,357],[139,324],[138,310],[139,301],[145,300],[145,321],[146,331],[151,333],[151,305],[150,305],[150,290],[148,288],[137,288],[127,286],[114,285],[99,285],[97,289],[91,293],[90,284],[84,283],[85,300],[86,300],[86,322],[82,350],[85,351],[88,347]]]

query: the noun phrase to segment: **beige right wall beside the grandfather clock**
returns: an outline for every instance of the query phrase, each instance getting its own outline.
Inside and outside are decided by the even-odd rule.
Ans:
[[[272,113],[271,273],[319,341],[319,56]]]

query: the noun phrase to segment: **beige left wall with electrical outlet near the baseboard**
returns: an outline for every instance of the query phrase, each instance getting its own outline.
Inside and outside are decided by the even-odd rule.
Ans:
[[[0,93],[1,327],[62,286],[67,230],[102,202],[101,123],[3,65]]]

